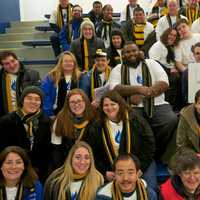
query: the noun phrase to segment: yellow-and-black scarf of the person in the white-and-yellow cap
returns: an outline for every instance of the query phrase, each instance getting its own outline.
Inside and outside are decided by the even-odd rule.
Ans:
[[[105,79],[106,79],[105,83],[108,81],[108,78],[109,78],[109,75],[110,75],[110,71],[111,71],[111,68],[110,68],[109,65],[107,65],[106,71],[105,71]],[[102,83],[101,78],[99,77],[99,74],[98,74],[98,70],[97,70],[96,66],[94,65],[93,68],[92,68],[91,82],[90,82],[90,85],[91,85],[91,97],[92,97],[93,100],[94,100],[94,97],[95,97],[94,89],[98,88],[98,87],[101,87],[105,83]]]

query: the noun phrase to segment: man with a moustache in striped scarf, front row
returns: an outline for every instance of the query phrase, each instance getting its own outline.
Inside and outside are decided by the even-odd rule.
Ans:
[[[101,187],[97,200],[157,199],[156,193],[140,178],[140,163],[131,154],[121,154],[114,163],[114,181]]]

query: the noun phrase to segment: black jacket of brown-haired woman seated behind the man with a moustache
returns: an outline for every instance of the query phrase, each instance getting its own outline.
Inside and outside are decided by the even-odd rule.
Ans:
[[[90,131],[90,133],[93,135],[89,137],[89,144],[91,145],[94,152],[97,169],[105,175],[106,171],[112,170],[112,166],[103,143],[102,127],[104,127],[104,124],[96,122],[96,125],[93,126],[93,129],[96,130]],[[125,124],[123,127],[125,127]],[[154,158],[155,141],[153,132],[147,121],[139,116],[136,111],[130,113],[130,129],[132,133],[131,153],[139,158],[141,162],[141,170],[145,172]],[[126,152],[125,135],[126,131],[125,128],[123,128],[119,153]]]

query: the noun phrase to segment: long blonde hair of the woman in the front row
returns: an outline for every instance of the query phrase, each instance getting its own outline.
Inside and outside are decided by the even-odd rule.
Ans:
[[[70,188],[70,184],[73,181],[72,157],[75,151],[81,147],[86,148],[89,152],[90,168],[80,189],[80,200],[95,199],[97,188],[103,184],[103,176],[96,170],[94,165],[94,156],[91,147],[86,142],[80,141],[72,146],[64,165],[55,170],[51,175],[56,178],[51,183],[54,184],[55,187],[59,188],[58,199],[66,198],[66,190]]]

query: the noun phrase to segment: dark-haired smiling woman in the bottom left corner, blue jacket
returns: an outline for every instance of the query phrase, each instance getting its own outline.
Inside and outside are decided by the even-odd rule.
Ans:
[[[22,148],[5,148],[0,154],[0,168],[0,199],[42,199],[42,186]]]

